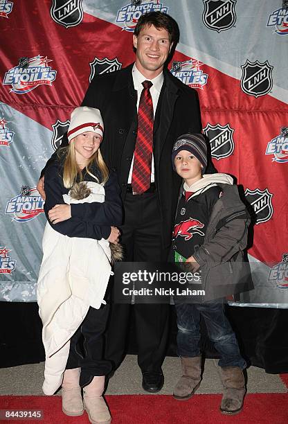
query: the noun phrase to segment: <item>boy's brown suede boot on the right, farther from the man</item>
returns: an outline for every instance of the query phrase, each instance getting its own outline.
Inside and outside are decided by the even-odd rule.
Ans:
[[[243,371],[239,366],[222,366],[220,376],[224,385],[220,411],[222,414],[238,414],[243,407],[246,391]]]

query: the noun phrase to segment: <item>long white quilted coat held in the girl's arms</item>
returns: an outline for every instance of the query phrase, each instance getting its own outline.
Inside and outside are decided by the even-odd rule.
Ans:
[[[91,194],[83,200],[63,195],[64,202],[104,202],[105,188],[87,182]],[[42,339],[46,353],[44,394],[52,395],[62,384],[70,339],[89,306],[100,308],[111,274],[107,240],[64,236],[47,222],[42,240],[43,259],[37,283]]]

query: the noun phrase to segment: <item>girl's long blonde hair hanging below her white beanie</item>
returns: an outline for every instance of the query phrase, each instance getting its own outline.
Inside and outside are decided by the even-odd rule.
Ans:
[[[65,188],[71,188],[73,184],[79,179],[79,182],[82,182],[82,170],[80,170],[75,155],[75,145],[74,143],[69,143],[67,147],[61,148],[58,154],[58,158],[65,157],[64,165],[63,165],[63,184]],[[91,168],[95,164],[100,170],[102,181],[99,181],[96,175],[93,175],[91,172]],[[105,164],[104,159],[102,158],[102,154],[100,149],[98,149],[93,156],[89,159],[89,163],[85,166],[87,174],[96,179],[97,182],[100,182],[105,185],[107,179],[109,177],[109,170],[107,165]]]

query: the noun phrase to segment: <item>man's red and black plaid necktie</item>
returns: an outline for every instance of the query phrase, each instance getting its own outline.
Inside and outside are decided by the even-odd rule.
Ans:
[[[151,81],[142,82],[143,90],[138,107],[138,132],[132,171],[132,190],[144,193],[150,187],[153,147],[153,103],[150,94]]]

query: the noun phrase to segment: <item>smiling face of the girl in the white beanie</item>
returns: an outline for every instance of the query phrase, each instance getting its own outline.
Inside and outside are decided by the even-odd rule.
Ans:
[[[82,132],[71,140],[75,147],[75,157],[78,166],[86,166],[89,159],[97,152],[102,137],[93,131]]]

